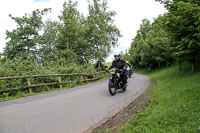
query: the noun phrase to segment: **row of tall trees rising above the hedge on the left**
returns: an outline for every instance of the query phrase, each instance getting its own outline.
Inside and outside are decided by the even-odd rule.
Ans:
[[[17,28],[7,31],[5,58],[31,59],[43,65],[57,64],[62,59],[68,63],[97,62],[99,66],[121,35],[114,25],[115,12],[108,11],[107,1],[89,2],[88,10],[88,16],[84,17],[77,10],[77,2],[68,0],[63,4],[59,21],[42,21],[50,9],[37,9],[22,18],[10,15]]]

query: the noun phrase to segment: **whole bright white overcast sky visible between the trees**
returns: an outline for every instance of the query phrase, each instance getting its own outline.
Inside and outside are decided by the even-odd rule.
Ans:
[[[48,14],[51,20],[57,20],[62,10],[65,0],[4,0],[0,2],[0,52],[6,44],[6,30],[12,31],[16,23],[8,16],[24,16],[25,13],[32,13],[35,9],[52,8]],[[66,0],[67,1],[67,0]],[[78,10],[85,16],[88,13],[87,0],[78,1]],[[91,1],[91,0],[90,0]],[[135,37],[142,19],[153,20],[158,15],[166,12],[163,5],[155,0],[108,0],[109,10],[117,13],[115,16],[115,25],[121,31],[123,37],[119,38],[119,47],[116,47],[107,61],[112,60],[113,53],[129,49],[132,39]]]

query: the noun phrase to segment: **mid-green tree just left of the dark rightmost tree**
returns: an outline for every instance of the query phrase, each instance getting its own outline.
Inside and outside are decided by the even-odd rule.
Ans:
[[[171,35],[166,31],[164,23],[166,15],[159,16],[154,20],[152,29],[148,33],[146,43],[151,49],[151,58],[160,67],[162,63],[167,65],[173,62],[171,55]]]

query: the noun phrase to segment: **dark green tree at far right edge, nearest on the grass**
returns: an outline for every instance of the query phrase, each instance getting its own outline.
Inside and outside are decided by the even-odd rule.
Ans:
[[[166,27],[173,36],[176,60],[192,63],[195,71],[196,58],[200,53],[200,1],[199,0],[156,0],[168,9]]]

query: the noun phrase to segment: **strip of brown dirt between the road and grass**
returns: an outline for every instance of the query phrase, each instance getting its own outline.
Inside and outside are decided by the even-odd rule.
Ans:
[[[91,133],[105,133],[106,131],[116,133],[120,131],[121,126],[130,123],[131,119],[144,109],[149,103],[153,91],[157,88],[157,80],[153,79],[151,81],[150,87],[146,90],[144,94],[130,103],[122,111],[118,112],[116,115],[111,117],[102,125],[94,128]]]

